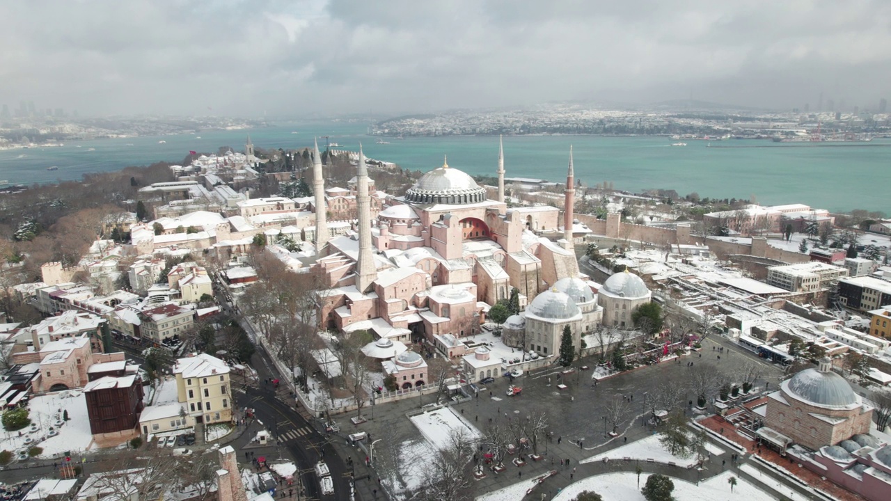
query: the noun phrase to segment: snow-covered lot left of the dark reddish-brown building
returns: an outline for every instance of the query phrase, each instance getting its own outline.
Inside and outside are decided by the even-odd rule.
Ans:
[[[32,447],[44,449],[41,457],[61,456],[67,451],[83,451],[93,442],[90,420],[86,414],[86,398],[80,391],[60,391],[31,398],[28,405],[32,424],[20,431],[3,431],[0,450],[27,451]],[[68,411],[69,421],[59,425],[62,413]],[[50,437],[50,428],[58,432]],[[20,436],[21,435],[21,436]],[[29,441],[30,443],[25,443]]]

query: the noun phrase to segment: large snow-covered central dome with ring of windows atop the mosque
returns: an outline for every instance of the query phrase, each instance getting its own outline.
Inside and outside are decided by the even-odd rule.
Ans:
[[[405,192],[405,201],[413,203],[447,203],[462,205],[486,201],[486,188],[477,185],[468,174],[450,168],[447,162],[421,176]]]

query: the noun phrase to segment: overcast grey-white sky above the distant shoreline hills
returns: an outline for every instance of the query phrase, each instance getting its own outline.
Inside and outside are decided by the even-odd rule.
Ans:
[[[891,94],[888,0],[60,0],[0,19],[0,103],[91,115]]]

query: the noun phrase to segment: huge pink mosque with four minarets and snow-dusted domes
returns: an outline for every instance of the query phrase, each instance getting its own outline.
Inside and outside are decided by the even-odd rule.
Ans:
[[[324,207],[317,146],[313,160],[315,206]],[[325,211],[316,211],[315,266],[324,286],[319,327],[367,329],[379,339],[400,342],[461,340],[480,333],[490,305],[509,298],[514,287],[526,311],[513,324],[525,324],[527,333],[519,335],[514,328],[505,344],[548,356],[555,354],[566,324],[576,349],[581,336],[603,319],[621,319],[624,326],[630,309],[649,301],[650,292],[636,275],[614,275],[604,284],[609,301],[601,304],[587,275],[579,272],[571,148],[562,218],[556,207],[509,209],[504,174],[500,145],[497,196],[490,200],[484,187],[446,160],[404,197],[388,196],[372,217],[370,179],[360,148],[356,231],[330,237]],[[533,230],[562,230],[562,238],[552,242]]]

